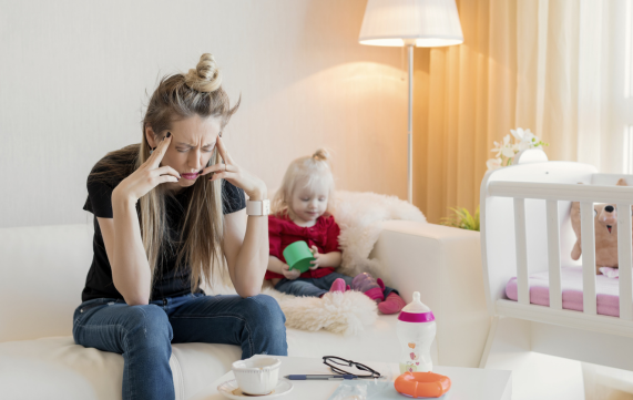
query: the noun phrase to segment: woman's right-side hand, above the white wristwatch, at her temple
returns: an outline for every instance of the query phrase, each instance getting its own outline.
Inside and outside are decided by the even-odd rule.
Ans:
[[[213,173],[210,181],[226,180],[231,184],[242,188],[251,199],[261,201],[267,197],[268,193],[264,181],[235,164],[233,157],[231,157],[226,151],[221,136],[217,137],[217,151],[222,160],[224,160],[224,163],[222,163],[218,157],[217,164],[202,170],[201,175]]]

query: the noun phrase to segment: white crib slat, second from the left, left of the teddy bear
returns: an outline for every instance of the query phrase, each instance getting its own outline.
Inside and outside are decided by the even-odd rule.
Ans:
[[[547,201],[548,260],[550,270],[550,308],[562,309],[561,245],[559,227],[559,202]]]

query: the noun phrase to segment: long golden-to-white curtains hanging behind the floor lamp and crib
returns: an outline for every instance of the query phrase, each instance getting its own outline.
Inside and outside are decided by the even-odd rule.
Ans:
[[[474,212],[490,148],[515,127],[549,143],[550,160],[621,171],[610,60],[624,29],[610,21],[624,4],[457,0],[463,44],[415,49],[414,204],[429,222]]]

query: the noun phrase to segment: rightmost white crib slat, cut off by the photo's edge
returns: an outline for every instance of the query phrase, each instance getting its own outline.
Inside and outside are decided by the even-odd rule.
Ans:
[[[617,265],[620,268],[620,318],[633,320],[631,274],[631,204],[617,204]]]

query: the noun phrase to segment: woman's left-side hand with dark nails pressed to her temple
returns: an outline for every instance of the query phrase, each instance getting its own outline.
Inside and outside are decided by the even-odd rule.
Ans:
[[[161,161],[172,143],[172,134],[163,139],[150,157],[130,176],[121,181],[112,196],[126,198],[134,203],[147,192],[166,182],[178,182],[181,174],[169,165],[161,166]]]

